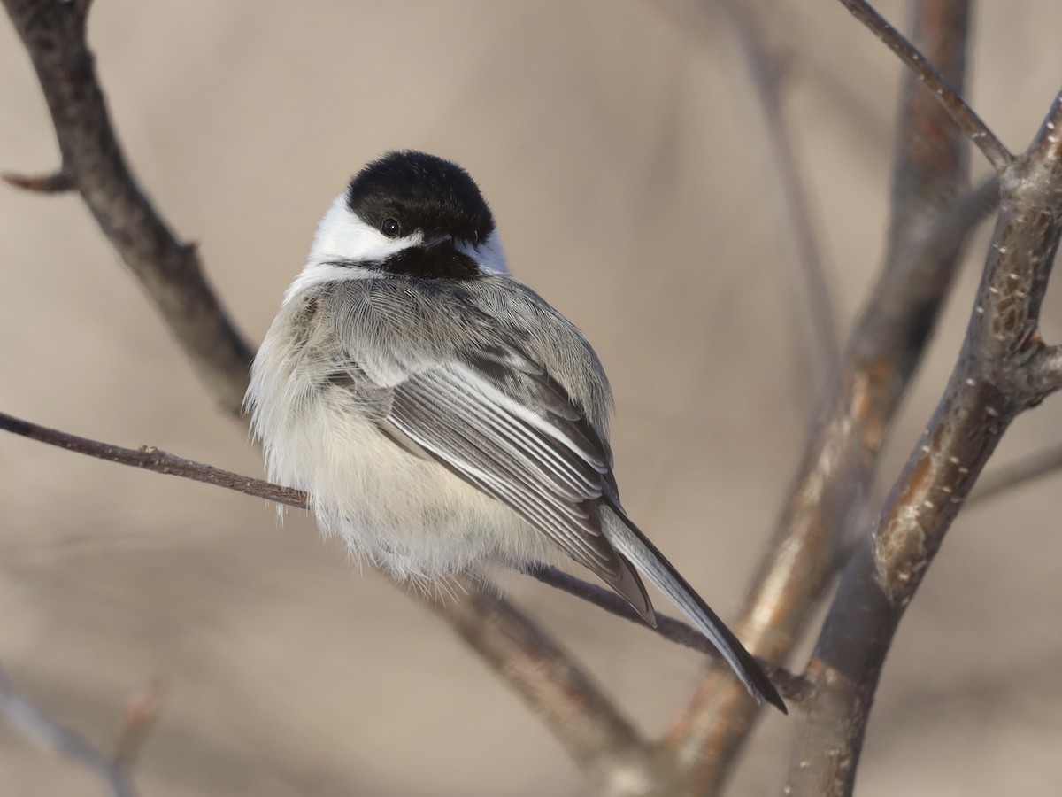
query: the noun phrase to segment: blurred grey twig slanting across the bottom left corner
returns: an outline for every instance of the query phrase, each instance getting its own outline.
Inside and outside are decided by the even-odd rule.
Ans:
[[[129,771],[90,745],[81,734],[45,715],[0,669],[0,715],[7,724],[45,749],[57,752],[100,776],[115,797],[136,797]]]

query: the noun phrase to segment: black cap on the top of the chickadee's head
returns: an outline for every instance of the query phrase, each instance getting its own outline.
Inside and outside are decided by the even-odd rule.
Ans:
[[[494,217],[468,172],[414,150],[369,164],[350,181],[346,204],[390,237],[422,232],[479,243],[494,232]]]

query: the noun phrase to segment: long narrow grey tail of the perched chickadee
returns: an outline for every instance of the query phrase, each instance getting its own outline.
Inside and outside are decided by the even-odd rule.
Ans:
[[[708,638],[749,693],[758,702],[767,700],[783,713],[788,713],[782,696],[752,655],[656,546],[631,523],[623,510],[609,498],[602,498],[601,520],[604,535],[613,547],[641,571]]]

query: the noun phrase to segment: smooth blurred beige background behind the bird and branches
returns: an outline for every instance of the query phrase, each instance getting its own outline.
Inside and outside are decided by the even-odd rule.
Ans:
[[[903,23],[906,5],[877,7]],[[846,330],[881,256],[901,67],[837,3],[778,0],[786,111]],[[1062,75],[1062,4],[983,3],[969,95],[1013,150]],[[90,44],[147,191],[254,342],[360,166],[412,147],[464,165],[516,275],[594,342],[617,394],[624,504],[733,617],[810,408],[808,353],[744,130],[729,30],[680,2],[100,0]],[[973,156],[975,172],[986,171]],[[0,22],[0,168],[57,165],[29,60]],[[881,490],[961,340],[987,231],[892,437]],[[0,188],[0,409],[259,475],[73,196]],[[1052,292],[1055,296],[1058,292]],[[1057,299],[1045,337],[1062,339]],[[992,465],[1060,437],[1056,397]],[[0,437],[0,662],[103,747],[158,679],[144,795],[577,795],[520,701],[422,607],[359,575],[304,513]],[[1057,793],[1058,479],[962,514],[887,662],[862,795]],[[701,659],[513,577],[507,590],[648,734]],[[669,610],[668,610],[669,611]],[[802,659],[796,660],[798,663]],[[732,794],[776,793],[791,720],[761,723]],[[0,725],[0,792],[96,794]]]

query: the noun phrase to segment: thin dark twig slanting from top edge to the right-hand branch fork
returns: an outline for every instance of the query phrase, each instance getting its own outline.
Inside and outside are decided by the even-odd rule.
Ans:
[[[841,5],[852,12],[856,19],[867,26],[874,35],[900,56],[901,61],[911,68],[926,88],[937,96],[955,123],[984,153],[984,157],[988,158],[997,174],[1011,164],[1014,156],[996,138],[995,133],[974,113],[973,108],[965,103],[961,90],[956,89],[943,74],[937,71],[937,68],[914,45],[889,24],[866,0],[841,0]]]

